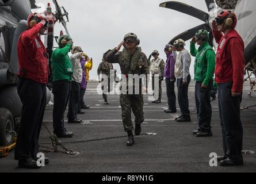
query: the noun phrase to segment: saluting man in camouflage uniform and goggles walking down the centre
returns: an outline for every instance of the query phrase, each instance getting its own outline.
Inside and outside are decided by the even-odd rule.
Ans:
[[[133,138],[133,125],[131,110],[135,115],[135,135],[140,135],[141,124],[144,121],[143,112],[143,94],[142,91],[146,92],[147,86],[147,71],[148,71],[148,60],[147,56],[142,52],[142,49],[138,47],[140,41],[137,39],[136,34],[128,33],[124,36],[124,41],[117,48],[109,50],[104,54],[104,59],[109,63],[119,63],[122,73],[121,83],[132,83],[132,94],[127,92],[130,90],[122,89],[120,94],[120,104],[122,109],[122,119],[124,124],[124,130],[128,133],[127,145],[131,146],[135,143]],[[122,45],[124,46],[123,51],[120,51]],[[133,79],[129,79],[128,76],[144,75],[143,84],[142,81],[137,85]],[[143,85],[143,87],[142,87]],[[124,86],[124,85],[122,85]],[[129,86],[129,85],[128,85]],[[135,94],[136,87],[140,87],[139,94]],[[130,89],[130,87],[129,87]]]

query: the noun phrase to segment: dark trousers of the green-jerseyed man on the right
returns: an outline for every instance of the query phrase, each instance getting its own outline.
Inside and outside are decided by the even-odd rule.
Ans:
[[[212,105],[211,105],[211,90],[213,81],[209,82],[207,89],[202,89],[202,82],[196,82],[195,97],[198,128],[202,132],[211,132],[212,121]]]

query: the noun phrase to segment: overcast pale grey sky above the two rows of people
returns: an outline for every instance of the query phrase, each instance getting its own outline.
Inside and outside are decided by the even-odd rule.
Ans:
[[[51,0],[36,0],[40,6],[47,6]],[[165,45],[177,34],[184,32],[203,22],[178,11],[159,7],[165,0],[59,0],[69,13],[68,31],[74,40],[74,45],[83,48],[94,59],[91,79],[97,78],[97,68],[102,55],[108,49],[117,47],[123,40],[124,34],[136,33],[140,39],[140,47],[147,56],[157,49],[163,59]],[[203,11],[207,10],[204,0],[182,0]],[[40,11],[40,10],[37,10]],[[64,30],[58,22],[55,35]],[[186,48],[189,49],[189,42]],[[194,58],[193,58],[194,60]],[[118,71],[120,67],[114,64]],[[193,63],[190,67],[193,75]]]

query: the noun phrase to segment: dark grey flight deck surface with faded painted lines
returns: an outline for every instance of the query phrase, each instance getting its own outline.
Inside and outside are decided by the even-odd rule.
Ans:
[[[95,88],[97,82],[90,82],[86,102],[91,106],[86,114],[79,115],[85,124],[67,124],[68,131],[74,131],[72,139],[76,141],[98,139],[126,135],[121,122],[119,95],[110,95],[110,105],[104,105],[102,95]],[[155,105],[145,97],[144,113],[146,124],[142,133],[156,133],[155,136],[135,137],[133,147],[125,146],[126,138],[93,141],[81,144],[67,144],[66,147],[78,151],[79,155],[48,153],[50,164],[40,170],[25,170],[17,168],[14,151],[6,158],[0,159],[0,172],[255,172],[256,154],[244,155],[242,167],[210,167],[209,154],[222,154],[221,129],[217,101],[212,102],[213,137],[197,138],[192,131],[197,129],[196,115],[193,122],[177,123],[174,118],[179,114],[165,114],[167,107],[166,89],[163,83],[163,102]],[[246,97],[249,84],[244,85],[244,98],[241,106],[255,105],[256,97]],[[255,94],[254,94],[255,95]],[[195,108],[194,82],[189,89],[190,109]],[[44,121],[52,131],[52,108],[47,106]],[[194,112],[193,112],[194,113]],[[244,127],[244,150],[256,151],[256,108],[244,110],[242,113]],[[65,115],[66,116],[66,115]],[[88,124],[89,122],[89,124]],[[91,124],[90,124],[91,123]],[[48,143],[48,133],[42,128],[41,143]]]

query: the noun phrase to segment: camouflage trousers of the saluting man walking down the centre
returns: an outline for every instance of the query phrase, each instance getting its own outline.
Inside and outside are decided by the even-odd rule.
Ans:
[[[132,112],[135,116],[135,124],[142,124],[144,121],[144,112],[143,112],[143,94],[138,95],[129,95],[121,94],[120,95],[120,104],[122,109],[122,120],[124,125],[124,131],[132,131]]]

